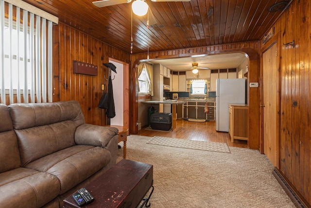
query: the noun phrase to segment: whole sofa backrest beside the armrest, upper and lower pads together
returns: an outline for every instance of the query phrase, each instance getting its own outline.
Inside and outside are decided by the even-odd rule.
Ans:
[[[76,101],[12,104],[9,112],[22,166],[75,145],[74,132],[85,123]]]

